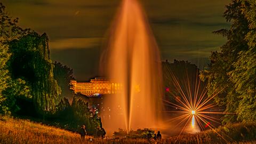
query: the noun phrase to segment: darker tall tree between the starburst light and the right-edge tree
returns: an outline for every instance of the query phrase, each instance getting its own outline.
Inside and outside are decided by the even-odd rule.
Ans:
[[[224,17],[230,22],[229,29],[215,31],[227,38],[227,42],[220,47],[221,51],[212,52],[209,67],[201,74],[207,80],[209,95],[218,93],[215,100],[219,105],[226,106],[226,112],[236,113],[239,105],[239,96],[234,89],[234,81],[230,80],[229,72],[234,70],[234,62],[238,60],[239,52],[248,49],[246,34],[249,32],[249,23],[244,15],[246,4],[241,0],[233,0],[226,6]],[[226,115],[223,122],[236,121],[236,115]]]

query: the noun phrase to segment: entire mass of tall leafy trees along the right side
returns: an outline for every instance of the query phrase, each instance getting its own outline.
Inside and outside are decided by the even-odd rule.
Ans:
[[[226,107],[223,122],[256,120],[256,60],[255,21],[256,2],[233,0],[224,17],[230,29],[214,33],[227,37],[221,51],[212,52],[209,67],[201,74],[207,79],[209,94],[220,91],[215,100]]]

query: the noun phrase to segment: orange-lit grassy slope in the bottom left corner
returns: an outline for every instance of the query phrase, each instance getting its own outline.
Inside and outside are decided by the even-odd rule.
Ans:
[[[77,143],[79,134],[28,120],[0,118],[0,143]]]

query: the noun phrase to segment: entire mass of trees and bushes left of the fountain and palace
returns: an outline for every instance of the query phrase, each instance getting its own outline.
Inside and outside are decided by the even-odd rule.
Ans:
[[[50,59],[49,38],[18,26],[0,3],[0,114],[97,133],[101,119],[69,84],[73,70]]]

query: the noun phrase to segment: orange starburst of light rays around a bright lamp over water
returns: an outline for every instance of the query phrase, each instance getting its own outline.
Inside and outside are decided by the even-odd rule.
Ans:
[[[212,116],[213,114],[235,114],[224,113],[222,111],[213,111],[212,108],[217,107],[213,98],[222,92],[226,87],[222,87],[220,90],[215,90],[211,95],[207,95],[206,85],[199,79],[199,70],[196,70],[196,74],[190,73],[188,76],[188,70],[184,71],[184,76],[177,77],[174,75],[170,67],[167,67],[169,73],[167,73],[167,79],[174,85],[174,89],[166,91],[170,93],[176,102],[164,100],[167,106],[174,107],[176,111],[165,111],[166,113],[180,113],[180,116],[176,116],[172,119],[168,119],[169,122],[179,121],[176,126],[181,126],[180,134],[185,130],[188,123],[191,122],[191,126],[195,126],[195,122],[200,126],[201,130],[205,130],[206,127],[210,127],[221,138],[217,131],[215,131],[214,125],[221,124],[220,119]],[[179,73],[180,74],[180,73]],[[177,96],[179,95],[179,96]],[[178,139],[178,138],[177,138]],[[223,138],[224,139],[224,138]],[[224,139],[225,140],[225,139]]]

